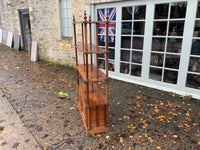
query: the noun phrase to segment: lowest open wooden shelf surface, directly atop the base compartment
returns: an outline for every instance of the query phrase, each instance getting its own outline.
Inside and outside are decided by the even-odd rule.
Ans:
[[[97,89],[98,83],[89,83],[89,106],[95,107],[95,106],[102,106],[107,105],[106,103],[106,97],[103,95],[103,93]],[[85,104],[87,104],[87,84],[81,83],[79,84],[79,95],[82,97],[82,100]]]

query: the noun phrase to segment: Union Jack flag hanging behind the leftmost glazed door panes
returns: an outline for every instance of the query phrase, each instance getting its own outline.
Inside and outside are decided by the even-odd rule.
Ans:
[[[116,8],[108,8],[108,20],[109,21],[115,21],[116,20]],[[106,12],[105,9],[99,9],[98,10],[98,20],[99,21],[106,21]],[[101,23],[99,24],[99,33],[101,35],[106,35],[106,24]],[[108,24],[108,34],[113,35],[115,34],[115,23],[109,23]],[[106,41],[105,36],[100,36],[101,41]],[[114,36],[109,36],[108,42],[114,42]]]

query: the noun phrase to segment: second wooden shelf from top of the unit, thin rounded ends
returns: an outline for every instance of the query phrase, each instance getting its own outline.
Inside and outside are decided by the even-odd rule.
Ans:
[[[89,54],[102,54],[102,53],[106,53],[108,51],[106,51],[104,48],[98,47],[98,50],[96,49],[96,45],[92,45],[92,44],[87,44],[88,47],[88,51],[85,51],[85,45],[81,44],[81,45],[77,45],[77,48],[83,52],[83,53],[89,53]]]

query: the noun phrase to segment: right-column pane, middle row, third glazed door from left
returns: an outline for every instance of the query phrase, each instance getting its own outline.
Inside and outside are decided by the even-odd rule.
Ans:
[[[181,53],[182,39],[168,38],[167,40],[167,52]]]

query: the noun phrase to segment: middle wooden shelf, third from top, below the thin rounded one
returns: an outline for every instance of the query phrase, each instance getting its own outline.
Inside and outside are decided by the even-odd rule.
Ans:
[[[86,78],[86,65],[78,65],[76,69],[81,74],[83,80],[87,80]],[[98,77],[97,77],[97,67],[94,64],[88,64],[88,80],[89,81],[102,81],[106,79],[106,75],[98,69]]]

